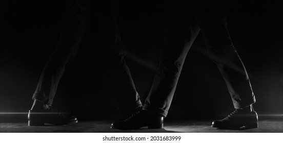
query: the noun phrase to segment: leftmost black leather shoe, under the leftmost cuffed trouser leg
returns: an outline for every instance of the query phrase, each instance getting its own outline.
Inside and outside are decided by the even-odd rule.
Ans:
[[[28,126],[44,126],[45,123],[52,125],[67,125],[77,123],[77,118],[67,113],[56,112],[49,107],[46,110],[29,110]]]

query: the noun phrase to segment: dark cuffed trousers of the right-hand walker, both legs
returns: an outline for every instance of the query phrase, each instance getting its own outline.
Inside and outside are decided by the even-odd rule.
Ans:
[[[221,3],[176,0],[144,109],[167,115],[186,55],[200,31],[211,60],[227,84],[234,107],[242,108],[255,102],[247,71],[228,33]]]

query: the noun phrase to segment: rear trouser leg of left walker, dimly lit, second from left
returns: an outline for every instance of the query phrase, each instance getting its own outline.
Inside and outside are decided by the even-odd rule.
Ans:
[[[114,15],[115,3],[112,0],[90,1],[72,0],[79,11],[77,17],[82,25],[92,34],[98,32],[99,47],[93,42],[93,48],[99,49],[94,55],[101,57],[104,66],[91,65],[97,70],[107,70],[108,79],[117,99],[118,107],[123,113],[142,106],[139,95],[125,62],[126,50],[120,38]],[[96,50],[94,50],[96,51]],[[98,64],[101,65],[101,64]],[[105,78],[107,79],[107,78]]]

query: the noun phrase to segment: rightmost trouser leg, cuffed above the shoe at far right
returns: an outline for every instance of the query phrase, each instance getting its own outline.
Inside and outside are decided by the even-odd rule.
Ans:
[[[230,38],[225,13],[220,3],[196,1],[193,9],[197,23],[204,35],[210,58],[223,76],[235,108],[255,102],[255,97],[244,64]]]

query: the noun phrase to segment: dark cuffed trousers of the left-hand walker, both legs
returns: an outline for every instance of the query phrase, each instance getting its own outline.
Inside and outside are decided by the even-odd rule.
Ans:
[[[105,43],[101,59],[110,68],[109,79],[116,95],[119,109],[131,112],[142,106],[135,89],[130,70],[125,63],[125,47],[120,39],[113,12],[112,1],[70,0],[67,3],[62,31],[57,47],[47,61],[36,90],[34,100],[52,105],[60,78],[65,66],[76,56],[80,41],[86,30],[90,33],[99,32]],[[101,68],[101,67],[97,67]]]

